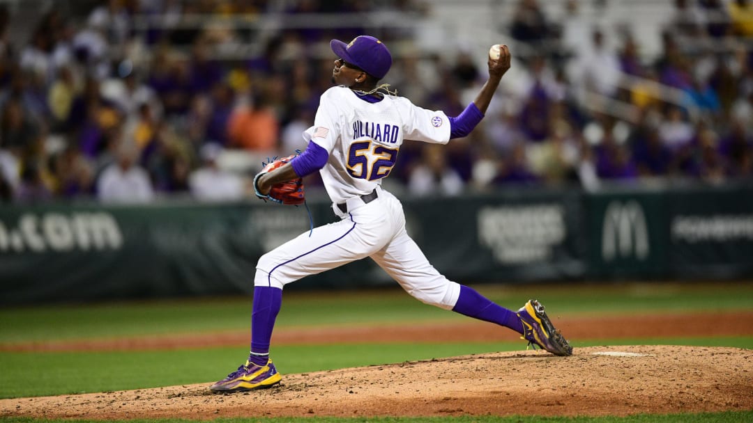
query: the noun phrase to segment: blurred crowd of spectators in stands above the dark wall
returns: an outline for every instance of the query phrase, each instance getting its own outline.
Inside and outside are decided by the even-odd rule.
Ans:
[[[753,179],[751,2],[675,0],[651,60],[630,21],[585,22],[576,0],[563,0],[558,16],[536,0],[514,4],[499,29],[511,40],[514,68],[486,118],[447,146],[405,143],[390,184],[413,195],[459,195],[520,184]],[[331,86],[328,41],[367,29],[261,33],[179,23],[202,14],[258,22],[336,11],[421,19],[431,7],[108,0],[78,16],[51,5],[20,47],[9,39],[14,16],[0,7],[0,201],[246,198],[262,158],[305,149],[301,132]],[[451,59],[413,54],[402,48],[411,31],[375,34],[395,53],[383,82],[456,116],[486,80],[486,48],[458,46]],[[254,39],[264,40],[258,52],[233,56]],[[232,153],[254,166],[221,160]]]

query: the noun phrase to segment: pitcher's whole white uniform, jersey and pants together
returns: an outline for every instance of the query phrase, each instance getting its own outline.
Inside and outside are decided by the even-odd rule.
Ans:
[[[314,228],[311,234],[306,231],[264,254],[255,285],[282,289],[305,276],[370,257],[419,301],[452,309],[459,284],[428,262],[405,230],[401,202],[381,188],[404,139],[437,144],[450,140],[447,115],[390,95],[368,103],[338,86],[322,95],[314,126],[303,137],[329,153],[320,174],[341,220]],[[361,198],[375,189],[377,198]]]

